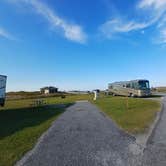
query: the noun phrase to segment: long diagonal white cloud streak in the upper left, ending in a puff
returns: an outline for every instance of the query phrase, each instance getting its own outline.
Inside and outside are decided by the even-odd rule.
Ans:
[[[50,9],[46,4],[42,3],[38,0],[10,0],[10,2],[14,3],[26,3],[28,5],[31,5],[36,13],[43,16],[54,28],[59,28],[63,31],[64,36],[72,41],[79,42],[79,43],[85,43],[87,36],[83,32],[83,29],[81,26],[68,23],[66,20],[60,18],[58,15],[55,14],[55,12]]]

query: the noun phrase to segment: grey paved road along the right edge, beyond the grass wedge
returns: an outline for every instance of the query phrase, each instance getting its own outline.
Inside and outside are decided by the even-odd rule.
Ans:
[[[163,112],[144,151],[144,166],[166,166],[166,97],[163,100]]]

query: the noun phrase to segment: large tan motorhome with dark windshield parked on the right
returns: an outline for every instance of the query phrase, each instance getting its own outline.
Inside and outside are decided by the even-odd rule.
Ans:
[[[114,82],[108,85],[108,89],[112,95],[129,97],[145,97],[151,95],[148,80]]]

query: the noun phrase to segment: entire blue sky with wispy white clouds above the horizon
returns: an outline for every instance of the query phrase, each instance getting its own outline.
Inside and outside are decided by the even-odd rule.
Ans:
[[[166,85],[166,0],[1,0],[7,91]]]

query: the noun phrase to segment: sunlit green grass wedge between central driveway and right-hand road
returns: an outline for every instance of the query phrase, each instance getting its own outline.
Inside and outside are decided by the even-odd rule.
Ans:
[[[144,132],[161,108],[160,102],[141,98],[104,97],[94,103],[132,134]]]

